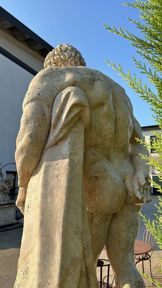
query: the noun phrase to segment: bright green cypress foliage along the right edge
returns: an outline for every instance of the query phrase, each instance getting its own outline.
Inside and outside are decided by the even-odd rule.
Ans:
[[[154,113],[153,117],[162,129],[162,1],[136,0],[133,4],[123,3],[123,5],[140,9],[140,21],[131,20],[130,18],[128,19],[137,27],[138,31],[141,33],[141,37],[133,35],[121,27],[116,29],[114,26],[111,28],[106,24],[103,25],[109,32],[128,39],[131,45],[135,47],[136,52],[144,59],[144,63],[143,61],[141,62],[140,60],[136,60],[135,57],[132,56],[133,63],[137,69],[140,69],[140,73],[146,75],[150,84],[156,88],[156,94],[152,91],[151,85],[148,87],[146,83],[142,82],[141,77],[137,78],[135,73],[132,74],[130,70],[125,74],[119,63],[118,65],[115,65],[113,61],[110,62],[106,59],[105,60],[112,69],[118,71],[118,74],[134,90],[134,92],[138,93],[140,97],[150,104],[151,110]],[[141,139],[137,139],[137,141],[149,149],[155,149],[154,152],[159,154],[157,161],[145,155],[141,155],[141,157],[147,160],[148,165],[151,165],[155,170],[162,174],[162,138],[159,132],[153,131],[153,133],[157,137],[156,141],[154,139],[154,141],[150,141],[149,144],[146,144],[146,142],[143,142]],[[158,175],[158,177],[159,181],[162,181],[162,175]],[[160,185],[155,182],[152,182],[152,184],[162,193]],[[141,215],[144,218],[146,227],[155,236],[159,248],[162,249],[162,199],[160,196],[158,197],[159,206],[155,205],[158,213],[155,214],[157,220],[150,223],[149,219],[147,220],[144,215]],[[162,262],[162,259],[159,259]],[[162,273],[161,269],[158,270]],[[157,287],[162,288],[157,280],[154,281],[146,274],[144,274],[144,276],[154,282]]]

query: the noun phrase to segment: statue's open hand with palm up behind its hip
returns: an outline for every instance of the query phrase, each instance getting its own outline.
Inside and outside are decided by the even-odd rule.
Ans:
[[[133,190],[135,196],[147,203],[152,201],[149,192],[150,184],[151,178],[144,169],[138,170],[133,176]]]

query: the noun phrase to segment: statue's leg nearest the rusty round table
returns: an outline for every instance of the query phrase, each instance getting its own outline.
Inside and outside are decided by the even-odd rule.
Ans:
[[[134,263],[134,241],[139,228],[141,206],[124,204],[112,216],[106,251],[115,275],[116,288],[144,288],[144,281]]]

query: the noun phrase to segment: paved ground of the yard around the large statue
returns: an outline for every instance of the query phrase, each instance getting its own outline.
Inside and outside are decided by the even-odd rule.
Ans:
[[[158,197],[153,196],[152,202],[148,204],[144,204],[142,207],[142,213],[149,218],[150,220],[155,219],[154,213],[157,212],[155,204],[158,204]],[[140,217],[141,218],[141,217]],[[16,229],[10,229],[15,228]],[[9,229],[9,230],[5,230]],[[3,231],[5,230],[5,231]],[[16,272],[17,272],[17,262],[20,253],[20,244],[22,237],[22,225],[16,224],[15,226],[3,226],[0,228],[0,288],[13,288]],[[144,222],[140,221],[140,228],[137,235],[138,240],[142,240],[143,232],[145,230]],[[162,283],[162,276],[157,272],[158,268],[161,268],[160,260],[157,258],[155,254],[161,256],[162,251],[159,250],[158,245],[155,245],[155,250],[152,254],[152,274],[153,278],[158,279]],[[105,251],[102,251],[100,258],[107,259],[107,255]],[[144,263],[145,272],[150,274],[149,261],[145,261]],[[141,263],[137,264],[137,268],[142,270]],[[103,276],[107,274],[107,268],[103,270]],[[110,270],[110,274],[112,271]],[[99,278],[99,271],[97,271],[97,275]],[[110,277],[110,283],[113,276]],[[152,287],[152,282],[147,279],[144,279],[146,287]],[[155,287],[155,286],[154,286]],[[34,288],[34,287],[31,287]]]

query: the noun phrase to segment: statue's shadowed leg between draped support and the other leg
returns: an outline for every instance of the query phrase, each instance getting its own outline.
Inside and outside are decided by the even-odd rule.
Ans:
[[[101,208],[102,209],[102,208]],[[105,245],[112,215],[96,215],[88,211],[88,226],[91,236],[91,245],[95,269],[102,249]]]

